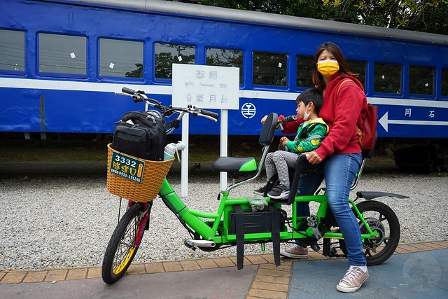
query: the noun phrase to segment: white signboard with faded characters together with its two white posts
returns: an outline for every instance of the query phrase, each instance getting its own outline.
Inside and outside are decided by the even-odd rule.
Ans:
[[[228,110],[239,109],[239,68],[198,64],[173,64],[173,106],[219,109],[221,157],[227,156]],[[182,120],[181,196],[188,196],[188,114]],[[227,188],[227,173],[220,174],[221,190]]]

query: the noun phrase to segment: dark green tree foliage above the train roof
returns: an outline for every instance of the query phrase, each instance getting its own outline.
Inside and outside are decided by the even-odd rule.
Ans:
[[[199,0],[199,4],[419,32],[448,32],[447,0]]]

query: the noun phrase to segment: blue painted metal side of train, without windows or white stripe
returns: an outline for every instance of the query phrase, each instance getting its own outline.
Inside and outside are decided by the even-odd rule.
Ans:
[[[113,122],[126,111],[137,110],[138,107],[130,99],[113,95],[110,88],[104,88],[104,83],[113,84],[113,90],[116,91],[120,90],[118,86],[125,85],[171,85],[169,80],[157,81],[153,78],[153,43],[162,42],[195,46],[197,64],[204,64],[206,47],[244,50],[244,78],[240,89],[277,93],[274,99],[269,99],[269,96],[258,97],[255,94],[254,98],[241,97],[241,109],[229,111],[228,132],[257,135],[260,133],[260,119],[265,114],[274,110],[290,115],[295,111],[294,101],[278,99],[279,92],[288,92],[285,98],[291,99],[291,93],[302,90],[295,86],[295,55],[314,55],[318,45],[333,41],[339,45],[348,60],[367,62],[366,95],[373,104],[379,106],[379,118],[382,119],[378,125],[379,137],[448,137],[447,125],[444,125],[448,121],[448,97],[444,97],[443,99],[447,100],[444,101],[440,94],[440,69],[448,68],[448,46],[443,43],[400,41],[386,37],[323,31],[316,27],[307,29],[278,24],[255,24],[172,12],[151,13],[130,8],[64,4],[63,1],[4,0],[0,3],[0,11],[1,29],[25,30],[27,53],[23,76],[0,74],[0,131],[112,132]],[[39,32],[87,36],[87,78],[38,74],[36,53]],[[98,39],[102,37],[144,41],[144,78],[99,78]],[[253,85],[253,51],[288,55],[288,83],[285,87]],[[374,92],[374,62],[398,63],[404,66],[402,94],[381,95]],[[437,68],[435,81],[439,88],[436,88],[435,95],[407,94],[409,65]],[[16,79],[15,85],[10,85],[11,81],[5,81],[6,78]],[[22,79],[25,80],[20,81]],[[167,92],[155,93],[153,97],[164,104],[171,103],[171,95]],[[419,104],[403,105],[399,102],[414,99],[418,100],[416,103]],[[420,102],[421,99],[428,99],[428,104]],[[406,109],[411,110],[406,113],[409,111]],[[386,112],[387,121],[383,118]],[[419,123],[421,121],[427,123]],[[383,125],[386,125],[387,130]],[[181,131],[176,132],[180,134]],[[219,123],[211,125],[209,120],[193,118],[190,120],[190,132],[219,134]]]

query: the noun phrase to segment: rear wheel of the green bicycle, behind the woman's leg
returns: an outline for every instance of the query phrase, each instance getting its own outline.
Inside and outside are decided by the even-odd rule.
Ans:
[[[370,200],[356,204],[363,218],[369,224],[372,231],[379,232],[380,239],[376,248],[372,249],[372,241],[364,241],[363,249],[367,265],[379,265],[390,258],[400,242],[400,222],[393,209],[382,202]],[[358,218],[358,217],[356,217]],[[365,225],[359,221],[361,233],[367,233]],[[344,239],[339,239],[342,252],[346,255]]]

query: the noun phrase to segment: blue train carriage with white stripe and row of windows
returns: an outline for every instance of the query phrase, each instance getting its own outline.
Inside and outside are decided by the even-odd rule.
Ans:
[[[379,106],[379,137],[448,137],[448,36],[171,1],[3,0],[0,132],[110,133],[141,88],[172,101],[172,64],[239,68],[229,134],[295,111],[312,57],[333,41]],[[200,102],[197,103],[200,106]],[[219,134],[192,120],[191,134]],[[179,131],[180,132],[180,131]]]

